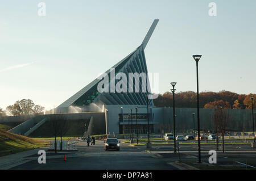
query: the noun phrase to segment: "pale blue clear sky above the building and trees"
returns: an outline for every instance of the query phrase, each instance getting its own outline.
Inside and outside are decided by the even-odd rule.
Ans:
[[[38,3],[46,16],[38,16]],[[217,16],[209,16],[210,2]],[[97,0],[0,3],[0,107],[32,99],[51,109],[137,48],[160,19],[146,49],[160,93],[256,92],[256,1]]]

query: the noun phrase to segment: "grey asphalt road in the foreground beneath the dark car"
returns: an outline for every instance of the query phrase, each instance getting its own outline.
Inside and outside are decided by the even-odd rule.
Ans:
[[[104,150],[104,142],[96,141],[96,145],[86,146],[86,142],[77,144],[75,154],[67,154],[67,161],[51,158],[48,154],[46,164],[39,164],[37,159],[15,166],[11,169],[110,169],[110,170],[176,170],[168,164],[173,158],[159,158],[154,153],[147,153],[127,144],[120,144],[120,150]]]

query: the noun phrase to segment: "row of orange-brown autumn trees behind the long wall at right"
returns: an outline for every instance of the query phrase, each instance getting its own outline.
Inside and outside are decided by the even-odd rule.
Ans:
[[[216,108],[221,106],[225,109],[251,109],[251,98],[256,94],[237,94],[230,91],[205,91],[199,93],[200,108]],[[164,92],[154,99],[156,107],[172,107],[172,92]],[[184,91],[175,93],[175,107],[197,108],[197,95],[193,91]],[[256,108],[255,101],[253,107]]]

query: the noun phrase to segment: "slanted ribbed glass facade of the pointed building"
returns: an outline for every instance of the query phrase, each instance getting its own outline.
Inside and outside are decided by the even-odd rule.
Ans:
[[[98,96],[104,96],[101,99],[106,105],[112,104],[130,104],[130,105],[146,105],[147,99],[146,95],[150,94],[147,92],[142,92],[142,78],[139,78],[139,92],[135,92],[135,78],[133,80],[133,92],[129,92],[129,73],[146,73],[146,60],[144,58],[144,50],[142,46],[137,48],[137,50],[131,53],[125,60],[123,60],[119,65],[115,66],[115,74],[122,72],[126,74],[127,77],[127,91],[126,92],[105,92],[104,95],[101,95],[97,91],[97,83],[95,83],[89,90],[85,92],[82,96],[73,102],[72,106],[87,106],[90,103],[93,103]],[[110,73],[109,81],[110,81]],[[119,80],[116,80],[117,83]],[[109,84],[110,85],[110,84]],[[100,97],[99,97],[100,98]],[[148,105],[154,106],[152,100],[148,100]]]

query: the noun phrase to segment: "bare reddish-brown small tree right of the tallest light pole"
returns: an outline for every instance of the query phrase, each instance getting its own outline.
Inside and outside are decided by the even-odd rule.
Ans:
[[[218,106],[214,110],[212,119],[213,119],[214,127],[216,129],[216,134],[217,134],[216,136],[218,137],[218,133],[220,133],[222,136],[222,150],[224,153],[225,152],[224,151],[224,136],[225,136],[225,132],[228,129],[229,115],[226,112],[226,110],[224,110],[221,106]],[[217,145],[218,145],[218,140],[217,140]]]

